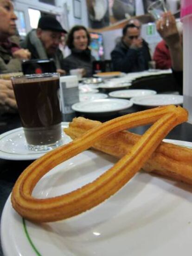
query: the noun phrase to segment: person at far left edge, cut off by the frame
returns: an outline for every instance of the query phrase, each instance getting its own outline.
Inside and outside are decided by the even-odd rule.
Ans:
[[[0,0],[0,73],[21,71],[21,61],[29,59],[28,50],[21,49],[15,36],[17,16],[11,0]]]

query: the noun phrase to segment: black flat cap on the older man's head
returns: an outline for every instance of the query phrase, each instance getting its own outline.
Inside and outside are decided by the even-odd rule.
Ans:
[[[58,20],[49,15],[43,16],[39,19],[38,28],[67,33],[66,30],[64,30],[61,24],[58,22]]]

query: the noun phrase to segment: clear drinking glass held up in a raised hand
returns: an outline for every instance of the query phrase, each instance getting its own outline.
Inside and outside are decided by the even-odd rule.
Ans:
[[[164,0],[157,0],[153,2],[150,6],[148,6],[147,12],[151,13],[154,19],[160,19],[161,14],[167,12]]]

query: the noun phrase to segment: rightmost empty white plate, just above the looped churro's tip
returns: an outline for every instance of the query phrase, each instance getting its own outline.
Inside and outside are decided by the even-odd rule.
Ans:
[[[174,94],[156,94],[152,96],[134,97],[131,101],[141,106],[163,106],[183,104],[183,96]]]

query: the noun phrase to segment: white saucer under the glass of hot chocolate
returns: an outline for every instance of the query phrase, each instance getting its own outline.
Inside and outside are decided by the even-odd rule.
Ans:
[[[62,122],[62,128],[68,127],[68,122]],[[71,141],[62,133],[63,144]],[[26,147],[26,138],[22,127],[0,134],[0,158],[7,160],[35,160],[47,151],[32,151]]]

